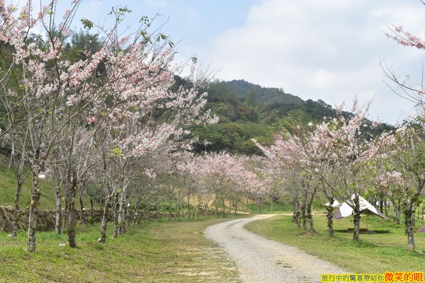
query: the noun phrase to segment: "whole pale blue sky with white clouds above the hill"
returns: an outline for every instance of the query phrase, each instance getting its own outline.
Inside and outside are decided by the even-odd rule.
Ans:
[[[373,99],[370,118],[392,124],[414,113],[382,81],[380,62],[413,85],[421,81],[425,50],[382,33],[392,23],[425,39],[419,0],[83,0],[76,26],[82,17],[103,23],[118,3],[132,10],[130,30],[140,17],[160,13],[156,23],[166,22],[162,32],[179,42],[176,61],[196,54],[215,68],[215,79],[244,79],[330,105]]]

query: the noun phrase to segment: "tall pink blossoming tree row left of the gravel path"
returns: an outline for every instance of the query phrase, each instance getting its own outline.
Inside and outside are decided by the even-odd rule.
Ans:
[[[56,173],[57,185],[64,187],[69,246],[76,247],[77,190],[90,172],[103,174],[106,229],[112,198],[120,194],[121,205],[134,179],[134,160],[170,139],[181,139],[188,125],[215,122],[203,111],[206,94],[198,93],[196,83],[193,88],[173,88],[178,71],[171,64],[174,50],[166,42],[152,43],[157,42],[154,35],[146,32],[118,37],[119,17],[115,27],[103,33],[98,51],[86,50],[76,61],[64,56],[64,38],[79,3],[72,1],[57,19],[52,13],[56,1],[36,14],[33,1],[21,10],[0,1],[0,41],[2,48],[8,47],[0,81],[8,114],[1,137],[6,143],[16,136],[25,141],[17,150],[33,178],[29,251],[35,250],[40,179],[48,173]],[[45,31],[45,44],[30,40],[35,28]]]

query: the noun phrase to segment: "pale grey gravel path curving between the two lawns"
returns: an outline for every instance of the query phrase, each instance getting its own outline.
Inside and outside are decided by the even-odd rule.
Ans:
[[[242,282],[320,282],[322,273],[347,273],[297,248],[267,240],[243,228],[250,221],[271,216],[226,221],[205,230],[205,236],[225,248],[237,263]]]

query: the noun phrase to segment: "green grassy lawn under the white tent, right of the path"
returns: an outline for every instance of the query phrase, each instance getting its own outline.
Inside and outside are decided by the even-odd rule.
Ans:
[[[352,241],[351,233],[347,233],[347,228],[353,227],[348,217],[334,221],[334,238],[327,233],[325,216],[314,217],[314,226],[317,233],[305,233],[292,224],[290,216],[275,216],[251,222],[245,228],[271,240],[296,246],[351,272],[424,271],[425,233],[415,233],[416,251],[409,253],[404,227],[378,217],[368,217],[368,229],[376,233],[361,234],[358,243]],[[365,217],[361,219],[361,228],[366,228]]]

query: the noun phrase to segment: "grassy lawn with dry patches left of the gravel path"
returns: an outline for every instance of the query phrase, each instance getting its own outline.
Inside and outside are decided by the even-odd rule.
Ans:
[[[35,253],[26,252],[26,233],[0,233],[0,282],[239,282],[233,262],[203,237],[225,220],[152,222],[106,244],[97,243],[98,224],[84,224],[79,248],[60,248],[66,237],[39,232]]]

